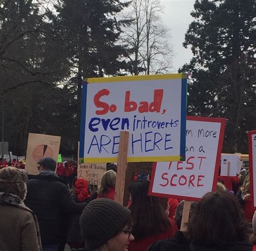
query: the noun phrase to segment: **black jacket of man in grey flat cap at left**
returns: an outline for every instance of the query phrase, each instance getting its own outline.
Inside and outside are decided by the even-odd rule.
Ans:
[[[65,184],[55,175],[39,175],[27,182],[25,205],[35,212],[42,245],[59,243],[70,213],[80,213],[87,203],[75,203]]]

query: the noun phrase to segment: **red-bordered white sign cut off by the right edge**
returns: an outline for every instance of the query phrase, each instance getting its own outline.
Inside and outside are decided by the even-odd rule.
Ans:
[[[256,210],[256,130],[248,132],[251,200]]]

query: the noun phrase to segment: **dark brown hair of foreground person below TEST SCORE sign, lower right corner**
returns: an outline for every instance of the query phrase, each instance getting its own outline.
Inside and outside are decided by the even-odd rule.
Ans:
[[[200,246],[246,241],[248,226],[237,199],[228,193],[206,193],[187,226],[187,238]]]

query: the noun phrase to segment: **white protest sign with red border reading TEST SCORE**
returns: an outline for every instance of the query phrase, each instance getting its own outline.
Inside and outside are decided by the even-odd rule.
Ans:
[[[198,200],[215,189],[224,118],[187,117],[186,161],[158,162],[153,166],[149,194]]]

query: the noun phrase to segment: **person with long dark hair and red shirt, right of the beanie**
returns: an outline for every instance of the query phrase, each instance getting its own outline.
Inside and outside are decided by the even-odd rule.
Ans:
[[[177,231],[173,221],[167,218],[158,197],[148,196],[149,180],[139,179],[129,187],[134,241],[128,251],[146,251],[154,242],[172,238]]]

